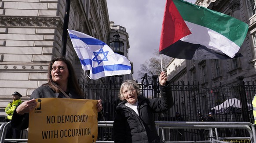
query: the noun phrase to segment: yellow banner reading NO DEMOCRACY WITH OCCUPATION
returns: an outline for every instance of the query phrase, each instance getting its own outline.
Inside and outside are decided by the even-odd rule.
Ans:
[[[38,98],[29,112],[28,143],[95,143],[97,100]]]

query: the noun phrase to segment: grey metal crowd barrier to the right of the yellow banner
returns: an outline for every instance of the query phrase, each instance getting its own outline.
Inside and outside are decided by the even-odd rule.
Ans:
[[[98,122],[99,127],[113,127],[113,121],[107,121],[107,126],[105,122]],[[250,122],[155,122],[156,128],[159,131],[158,135],[161,134],[162,139],[165,143],[238,143],[234,142],[236,140],[244,140],[245,142],[239,143],[256,143],[256,131],[255,127]],[[201,141],[165,141],[165,131],[164,129],[209,129],[209,139],[210,140],[201,140]],[[245,129],[249,133],[249,137],[236,137],[236,138],[225,138],[219,137],[217,128],[219,129]],[[216,139],[213,136],[213,129],[216,132]],[[161,131],[161,132],[160,132]],[[228,142],[228,140],[231,140]],[[100,143],[106,143],[101,141]],[[113,142],[109,142],[113,143]]]

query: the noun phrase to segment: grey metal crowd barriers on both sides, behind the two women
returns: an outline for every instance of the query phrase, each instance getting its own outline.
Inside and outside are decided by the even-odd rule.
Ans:
[[[161,136],[165,143],[256,143],[255,127],[250,122],[155,122],[158,135]],[[0,143],[7,141],[27,143],[27,139],[5,139],[7,127],[10,122],[0,123]],[[113,128],[113,121],[99,121],[99,128]],[[248,137],[219,137],[217,129],[245,129]],[[209,129],[209,140],[193,141],[165,141],[165,129]],[[215,129],[216,137],[213,132]],[[114,143],[114,141],[97,140],[96,143]]]

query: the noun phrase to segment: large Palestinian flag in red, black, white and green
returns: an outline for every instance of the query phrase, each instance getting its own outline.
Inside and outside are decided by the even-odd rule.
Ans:
[[[247,31],[248,24],[234,17],[183,0],[167,0],[159,54],[178,59],[238,57]]]

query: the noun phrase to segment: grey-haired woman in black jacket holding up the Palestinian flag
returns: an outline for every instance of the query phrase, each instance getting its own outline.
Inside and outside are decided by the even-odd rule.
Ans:
[[[165,72],[159,77],[161,98],[147,99],[139,95],[139,87],[133,80],[126,80],[120,88],[113,124],[115,143],[163,143],[157,135],[155,112],[165,112],[173,106],[172,91]]]

